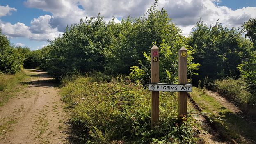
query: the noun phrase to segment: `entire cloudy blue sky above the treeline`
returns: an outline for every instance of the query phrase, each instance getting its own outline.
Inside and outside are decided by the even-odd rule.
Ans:
[[[139,17],[154,0],[0,0],[0,27],[15,46],[37,50],[63,34],[67,25],[101,13],[105,20]],[[219,22],[241,27],[256,18],[256,0],[158,0],[173,23],[187,36],[200,17],[208,25]]]

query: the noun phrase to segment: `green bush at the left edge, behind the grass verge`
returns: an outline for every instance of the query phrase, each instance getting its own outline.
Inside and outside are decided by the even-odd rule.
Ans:
[[[10,42],[0,29],[0,73],[14,74],[21,71],[25,56],[19,49],[10,46]]]

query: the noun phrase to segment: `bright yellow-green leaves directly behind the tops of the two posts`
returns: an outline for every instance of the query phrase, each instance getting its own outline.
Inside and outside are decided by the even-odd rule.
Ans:
[[[180,37],[177,39],[176,45],[171,45],[162,39],[162,43],[159,43],[159,77],[160,82],[177,83],[178,82],[178,50],[181,46],[187,48],[187,70],[189,75],[197,75],[194,70],[198,70],[200,64],[192,62],[194,59],[192,55],[195,53],[194,48],[185,45],[185,38]],[[174,47],[171,47],[174,46]],[[146,75],[150,75],[150,53],[144,52],[145,65],[142,65],[142,69],[147,72]]]

